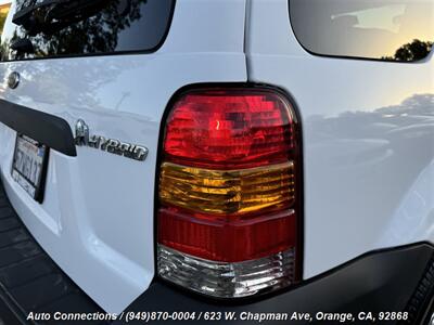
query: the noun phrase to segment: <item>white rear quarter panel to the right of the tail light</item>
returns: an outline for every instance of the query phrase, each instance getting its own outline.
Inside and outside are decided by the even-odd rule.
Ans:
[[[250,81],[294,100],[304,141],[308,278],[367,251],[434,240],[434,61],[306,52],[288,0],[250,2]],[[271,37],[272,36],[272,37]]]

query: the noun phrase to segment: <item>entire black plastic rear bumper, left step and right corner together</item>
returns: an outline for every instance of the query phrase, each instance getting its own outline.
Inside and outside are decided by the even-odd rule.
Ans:
[[[213,323],[209,318],[220,318],[229,324],[258,324],[248,317],[266,313],[292,316],[297,312],[310,313],[315,323],[318,312],[350,312],[355,316],[353,324],[369,324],[372,322],[359,320],[360,312],[372,312],[374,316],[380,312],[408,312],[409,320],[403,324],[423,324],[430,317],[433,294],[434,247],[421,243],[367,253],[294,289],[256,301],[209,301],[156,280],[124,314],[196,312],[195,321],[183,323],[209,324]],[[26,324],[29,312],[99,313],[102,310],[40,248],[0,185],[0,324],[1,321]],[[226,320],[226,312],[234,312],[237,321]],[[136,323],[144,324],[143,321]],[[179,324],[179,321],[161,323]],[[324,323],[339,322],[321,322]],[[398,321],[378,323],[400,324]],[[263,320],[260,324],[278,323]]]

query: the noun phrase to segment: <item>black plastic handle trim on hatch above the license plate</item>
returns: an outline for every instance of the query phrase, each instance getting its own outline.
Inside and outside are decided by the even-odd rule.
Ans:
[[[60,117],[0,100],[0,122],[62,154],[77,156],[73,131]]]

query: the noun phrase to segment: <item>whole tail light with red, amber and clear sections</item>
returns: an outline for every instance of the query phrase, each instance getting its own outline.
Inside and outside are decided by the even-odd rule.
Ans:
[[[299,155],[290,102],[268,89],[183,93],[164,130],[157,272],[235,298],[297,281]]]

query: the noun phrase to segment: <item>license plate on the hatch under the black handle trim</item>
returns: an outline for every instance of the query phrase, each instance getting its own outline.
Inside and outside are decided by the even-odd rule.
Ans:
[[[12,178],[34,199],[42,202],[47,171],[48,147],[18,134],[12,162]]]

